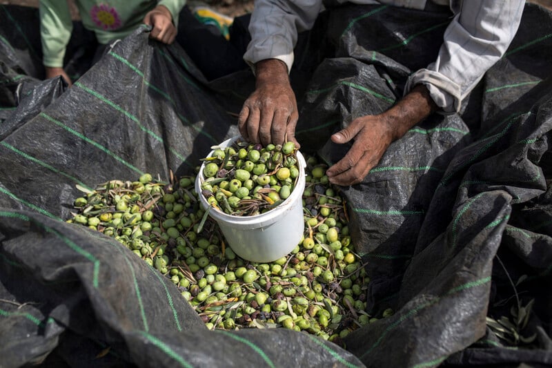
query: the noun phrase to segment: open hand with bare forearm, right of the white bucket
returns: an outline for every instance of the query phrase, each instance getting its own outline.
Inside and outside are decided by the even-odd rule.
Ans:
[[[335,165],[326,170],[328,180],[337,185],[353,185],[364,180],[368,172],[380,162],[386,149],[437,110],[425,86],[415,86],[397,104],[380,115],[357,117],[345,129],[332,135],[333,142],[354,141],[351,149]]]

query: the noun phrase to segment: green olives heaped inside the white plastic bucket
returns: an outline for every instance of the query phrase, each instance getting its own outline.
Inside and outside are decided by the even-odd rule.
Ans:
[[[273,209],[295,188],[299,167],[293,142],[215,146],[203,159],[201,194],[228,215],[253,216]]]

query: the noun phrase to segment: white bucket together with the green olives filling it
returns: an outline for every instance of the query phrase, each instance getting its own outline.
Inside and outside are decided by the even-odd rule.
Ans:
[[[273,262],[302,239],[306,163],[293,142],[233,137],[212,147],[195,181],[201,205],[244,260]]]

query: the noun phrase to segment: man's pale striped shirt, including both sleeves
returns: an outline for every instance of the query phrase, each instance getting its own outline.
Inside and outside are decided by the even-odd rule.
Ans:
[[[425,1],[431,0],[378,2],[423,8]],[[351,2],[375,3],[373,0]],[[424,84],[445,113],[460,110],[462,100],[506,52],[520,25],[524,5],[524,0],[450,1],[454,16],[444,32],[439,55],[435,62],[408,78],[404,93],[417,84]],[[254,66],[264,59],[280,59],[289,72],[297,32],[311,29],[320,10],[322,0],[256,0],[249,25],[252,39],[244,55],[245,61]]]

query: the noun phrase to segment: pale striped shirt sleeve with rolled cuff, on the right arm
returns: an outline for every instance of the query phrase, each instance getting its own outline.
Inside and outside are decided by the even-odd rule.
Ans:
[[[453,1],[455,16],[446,28],[435,62],[408,78],[404,93],[424,84],[445,113],[462,100],[506,52],[520,26],[524,0]]]

